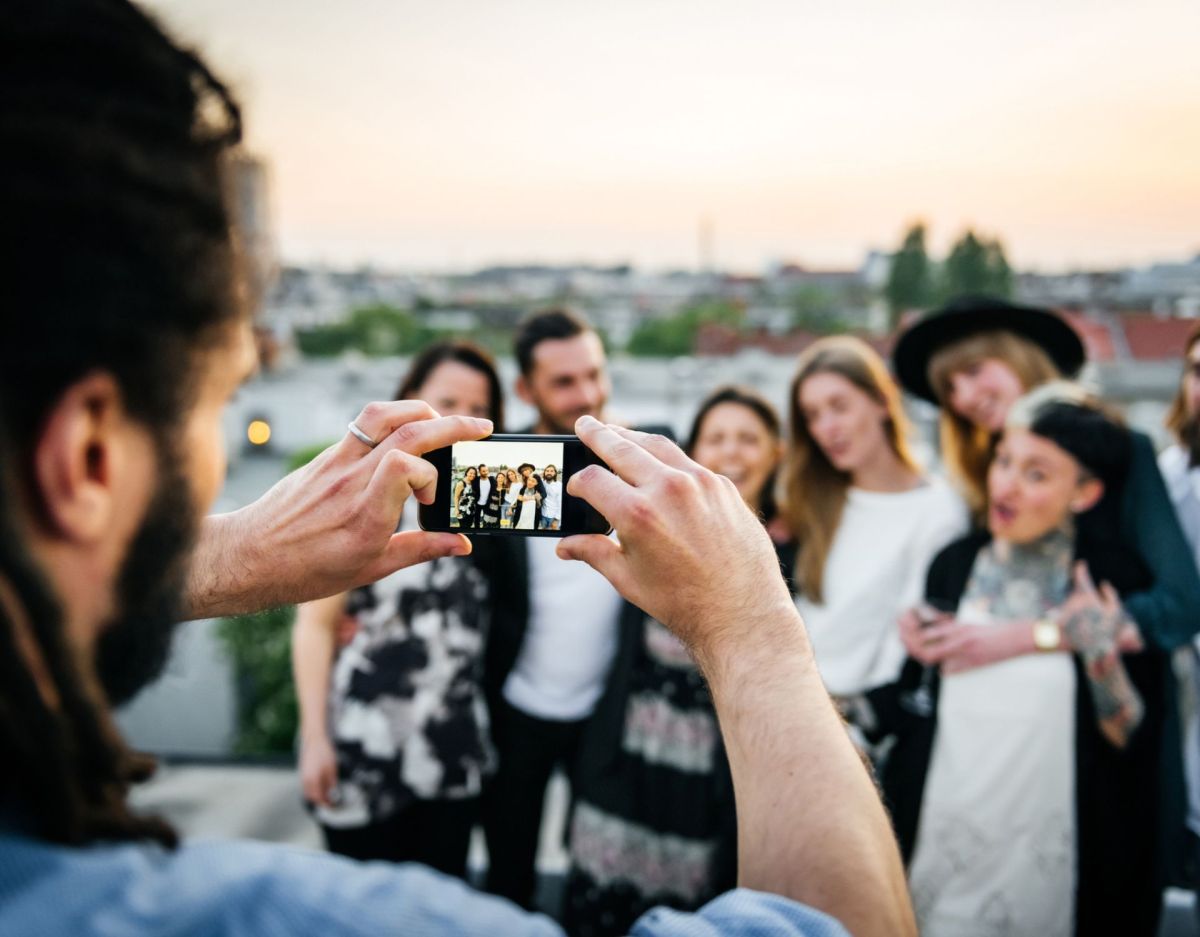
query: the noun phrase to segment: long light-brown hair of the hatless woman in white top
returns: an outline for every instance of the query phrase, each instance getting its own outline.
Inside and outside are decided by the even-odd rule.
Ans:
[[[796,581],[805,596],[823,601],[826,560],[841,523],[850,474],[834,468],[809,432],[800,408],[800,388],[816,374],[838,374],[887,410],[883,432],[896,457],[920,471],[908,449],[908,419],[900,390],[869,344],[852,336],[814,342],[800,355],[788,403],[791,440],[784,468],[784,517],[799,545]]]

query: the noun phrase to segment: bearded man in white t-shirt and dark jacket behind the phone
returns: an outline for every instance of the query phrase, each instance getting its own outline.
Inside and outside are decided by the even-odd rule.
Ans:
[[[515,350],[517,395],[538,410],[530,432],[574,434],[581,416],[605,419],[607,361],[587,320],[538,313],[518,329]],[[544,515],[550,501],[547,493]],[[554,770],[572,773],[608,679],[623,603],[595,570],[559,559],[553,537],[488,540],[475,545],[492,588],[485,685],[499,756],[484,804],[487,889],[530,907],[546,786]]]

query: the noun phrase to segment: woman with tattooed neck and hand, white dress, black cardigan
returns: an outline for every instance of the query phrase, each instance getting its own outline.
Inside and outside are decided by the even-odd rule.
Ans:
[[[926,599],[955,611],[907,615],[913,656],[869,695],[928,937],[1156,932],[1166,660],[1118,597],[1151,584],[1118,533],[1129,460],[1128,431],[1074,385],[1018,402],[988,530],[930,567]],[[1015,621],[1039,653],[971,660],[974,636]]]

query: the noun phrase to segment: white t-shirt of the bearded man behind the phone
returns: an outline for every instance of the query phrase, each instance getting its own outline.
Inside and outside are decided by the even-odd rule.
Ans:
[[[586,563],[559,559],[557,540],[530,537],[529,626],[504,698],[522,713],[563,722],[592,715],[604,692],[622,597]]]

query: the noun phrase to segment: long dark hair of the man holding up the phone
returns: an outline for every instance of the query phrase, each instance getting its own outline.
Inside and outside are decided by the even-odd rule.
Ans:
[[[125,0],[6,0],[0,88],[0,803],[64,842],[170,841],[125,806],[137,759],[30,553],[48,525],[34,457],[66,395],[102,376],[154,440],[160,482],[178,473],[204,352],[244,314],[224,198],[239,110]],[[167,500],[188,509],[186,492]],[[167,540],[139,533],[128,555]],[[152,587],[137,566],[121,579]]]

